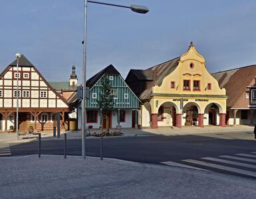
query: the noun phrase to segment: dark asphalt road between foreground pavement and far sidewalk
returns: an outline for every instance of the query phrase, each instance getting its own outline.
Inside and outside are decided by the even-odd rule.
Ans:
[[[216,134],[216,133],[215,133]],[[253,135],[251,135],[253,137]],[[67,155],[81,155],[81,140],[68,139]],[[41,153],[45,155],[63,155],[63,140],[42,140]],[[38,154],[38,142],[11,145],[12,155],[33,155]],[[203,135],[183,135],[183,136],[138,136],[138,137],[107,137],[104,138],[104,157],[135,161],[140,163],[160,164],[162,162],[175,162],[182,165],[194,166],[217,172],[225,172],[256,179],[256,168],[244,168],[237,165],[227,165],[218,163],[217,165],[228,166],[225,169],[209,167],[205,165],[195,165],[184,162],[186,159],[200,160],[203,157],[219,158],[221,155],[233,156],[237,153],[251,154],[256,151],[256,141],[244,139],[220,139],[215,137],[205,137]],[[100,138],[86,139],[86,155],[99,157]],[[254,154],[256,157],[256,154]],[[254,157],[250,157],[254,159]],[[205,161],[205,160],[204,160]],[[229,159],[229,161],[234,161]],[[236,160],[237,161],[237,160]],[[255,161],[255,162],[254,162]],[[212,163],[211,161],[206,161]],[[240,161],[256,167],[256,158],[253,162]],[[231,167],[231,169],[229,168]],[[233,168],[245,170],[233,172]],[[231,171],[230,171],[231,170]],[[255,176],[254,176],[255,175]]]

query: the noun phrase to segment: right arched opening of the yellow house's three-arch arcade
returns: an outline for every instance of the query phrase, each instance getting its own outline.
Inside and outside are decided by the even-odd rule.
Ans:
[[[222,111],[222,108],[217,103],[209,103],[205,107],[204,115],[207,121],[205,125],[219,125],[219,113]]]

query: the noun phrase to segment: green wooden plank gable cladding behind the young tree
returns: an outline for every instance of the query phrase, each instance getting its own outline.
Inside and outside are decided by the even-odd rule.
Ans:
[[[118,74],[104,74],[89,92],[89,100],[86,107],[98,107],[97,100],[102,92],[102,78],[110,80],[111,89],[114,90],[114,108],[138,108],[140,100],[130,90],[124,79]],[[95,95],[96,94],[96,95]]]

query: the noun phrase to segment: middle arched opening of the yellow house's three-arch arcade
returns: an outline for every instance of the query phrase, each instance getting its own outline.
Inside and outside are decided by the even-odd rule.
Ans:
[[[199,105],[193,102],[186,103],[183,108],[182,124],[185,126],[197,126],[199,112]]]

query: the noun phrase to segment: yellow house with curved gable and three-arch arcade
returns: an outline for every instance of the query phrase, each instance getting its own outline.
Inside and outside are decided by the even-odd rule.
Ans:
[[[178,58],[146,70],[130,70],[126,82],[142,101],[142,127],[225,127],[225,89],[209,74],[192,42]]]

